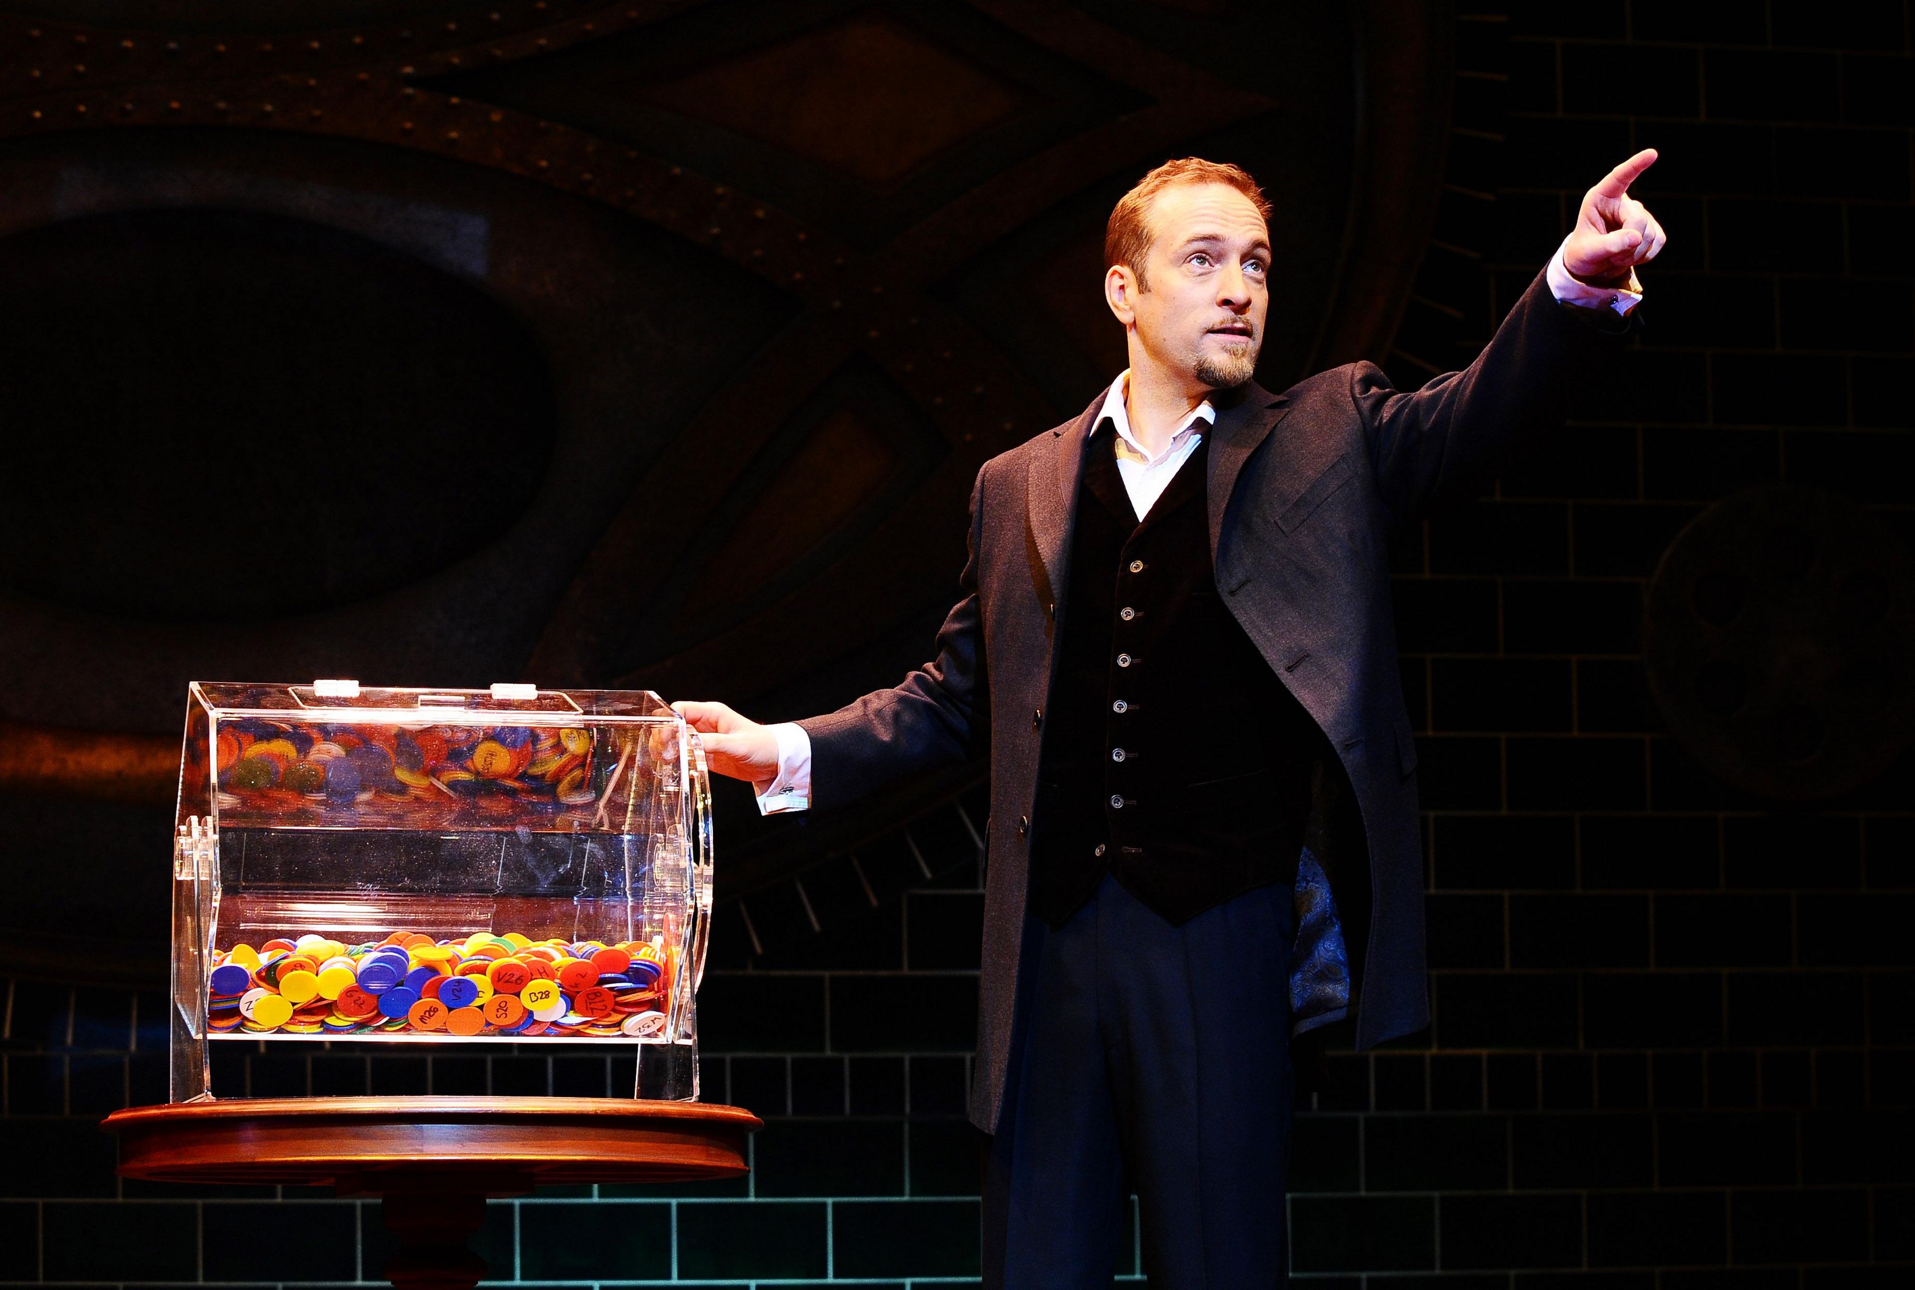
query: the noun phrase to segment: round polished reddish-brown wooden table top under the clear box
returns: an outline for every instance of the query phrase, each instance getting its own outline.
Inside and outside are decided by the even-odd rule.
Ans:
[[[762,1122],[739,1106],[613,1097],[287,1097],[132,1106],[101,1125],[157,1183],[532,1185],[737,1177]]]

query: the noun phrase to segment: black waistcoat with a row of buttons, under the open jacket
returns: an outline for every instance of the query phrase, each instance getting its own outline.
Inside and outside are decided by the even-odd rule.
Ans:
[[[1321,731],[1218,597],[1208,434],[1139,523],[1101,421],[1084,463],[1030,838],[1061,926],[1115,873],[1183,923],[1293,882]]]

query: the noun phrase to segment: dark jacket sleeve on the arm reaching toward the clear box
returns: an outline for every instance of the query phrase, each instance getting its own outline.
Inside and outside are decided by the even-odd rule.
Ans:
[[[936,656],[890,689],[799,722],[812,741],[812,806],[854,802],[910,775],[967,762],[988,746],[990,691],[977,595],[982,492],[979,471],[959,599],[938,628]]]

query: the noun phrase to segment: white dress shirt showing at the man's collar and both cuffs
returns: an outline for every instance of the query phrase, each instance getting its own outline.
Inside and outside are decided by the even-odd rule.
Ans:
[[[1565,237],[1563,247],[1566,245],[1568,239]],[[1643,283],[1637,281],[1635,270],[1630,270],[1628,287],[1591,287],[1586,281],[1570,278],[1568,268],[1563,266],[1563,247],[1557,247],[1557,253],[1549,256],[1549,268],[1543,270],[1549,293],[1561,304],[1612,308],[1626,318],[1630,310],[1643,302]],[[1124,492],[1130,494],[1130,505],[1141,521],[1149,513],[1151,503],[1170,486],[1178,467],[1203,442],[1203,431],[1216,425],[1216,410],[1208,400],[1197,404],[1183,425],[1178,427],[1178,433],[1170,436],[1170,446],[1153,457],[1143,450],[1136,434],[1130,433],[1128,394],[1130,369],[1126,367],[1118,373],[1116,381],[1111,381],[1111,389],[1105,390],[1103,408],[1092,419],[1092,431],[1105,417],[1116,427],[1116,473],[1124,478]],[[772,725],[772,735],[777,739],[777,775],[753,785],[758,810],[766,815],[802,812],[812,802],[812,741],[797,722]]]

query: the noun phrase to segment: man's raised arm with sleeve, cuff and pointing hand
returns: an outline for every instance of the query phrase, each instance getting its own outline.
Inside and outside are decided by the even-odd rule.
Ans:
[[[1641,300],[1635,266],[1668,241],[1628,191],[1655,159],[1643,149],[1584,193],[1576,228],[1469,367],[1396,390],[1375,366],[1356,366],[1350,396],[1396,521],[1476,480],[1505,444],[1599,406],[1597,377]]]

